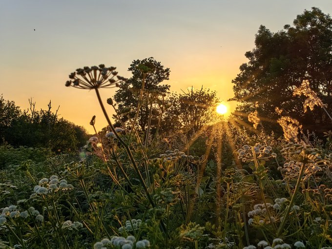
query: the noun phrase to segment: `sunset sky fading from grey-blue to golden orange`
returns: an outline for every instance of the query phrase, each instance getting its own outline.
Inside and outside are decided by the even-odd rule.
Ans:
[[[93,115],[106,126],[95,92],[65,87],[68,75],[104,63],[130,78],[132,61],[153,57],[170,68],[171,91],[203,85],[226,102],[259,26],[277,32],[313,6],[332,14],[331,0],[0,0],[0,94],[22,109],[51,100],[93,133]]]

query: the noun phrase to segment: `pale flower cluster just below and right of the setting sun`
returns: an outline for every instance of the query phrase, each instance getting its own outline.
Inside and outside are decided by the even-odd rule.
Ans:
[[[277,157],[277,154],[272,153],[271,146],[256,144],[255,146],[243,145],[237,150],[237,158],[242,162],[251,162],[254,160],[253,152],[257,159]]]

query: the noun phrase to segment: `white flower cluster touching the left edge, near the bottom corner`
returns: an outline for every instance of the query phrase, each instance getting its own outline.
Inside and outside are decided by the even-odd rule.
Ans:
[[[11,205],[9,207],[1,208],[0,211],[1,211],[0,226],[7,223],[7,219],[16,219],[16,218],[26,219],[29,216],[35,216],[37,221],[43,221],[44,219],[44,217],[39,213],[38,210],[35,210],[34,207],[29,207],[27,210],[20,211],[20,208],[18,206]]]

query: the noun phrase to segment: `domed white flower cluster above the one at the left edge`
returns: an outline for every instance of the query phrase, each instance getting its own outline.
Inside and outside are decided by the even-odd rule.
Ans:
[[[39,185],[34,187],[35,194],[48,194],[52,191],[56,192],[58,190],[68,190],[73,189],[74,187],[71,184],[68,184],[68,182],[64,179],[60,180],[58,179],[58,176],[52,175],[49,179],[43,178],[39,181]],[[34,197],[32,195],[31,197]]]

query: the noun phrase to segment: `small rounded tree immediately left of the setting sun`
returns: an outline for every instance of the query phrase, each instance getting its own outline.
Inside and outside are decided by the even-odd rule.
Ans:
[[[216,118],[219,99],[215,91],[202,86],[201,89],[191,87],[187,92],[174,93],[168,101],[172,105],[166,110],[162,126],[192,134]]]

